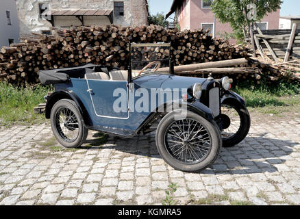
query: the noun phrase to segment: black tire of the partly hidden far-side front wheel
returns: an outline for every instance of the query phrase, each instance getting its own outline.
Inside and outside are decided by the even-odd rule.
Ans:
[[[244,107],[236,101],[228,101],[222,103],[221,107],[232,107],[232,109],[236,111],[238,117],[240,118],[240,126],[238,127],[237,131],[235,130],[235,133],[232,136],[226,136],[223,133],[223,130],[221,130],[223,147],[229,148],[232,146],[236,146],[236,144],[242,142],[242,140],[244,140],[247,134],[249,133],[250,126],[251,126],[251,119],[250,119],[249,112],[245,110]],[[233,124],[230,124],[230,126],[224,131],[229,130],[232,125]]]

